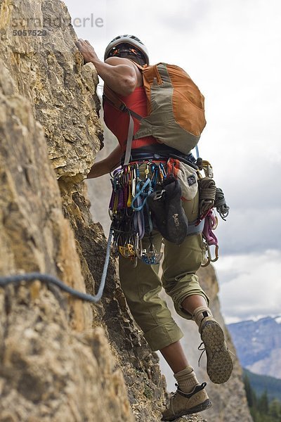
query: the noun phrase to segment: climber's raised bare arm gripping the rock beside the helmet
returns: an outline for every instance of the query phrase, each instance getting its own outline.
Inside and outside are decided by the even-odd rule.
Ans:
[[[80,38],[76,45],[83,55],[84,61],[93,63],[98,75],[112,91],[123,96],[128,96],[134,91],[138,83],[138,69],[131,60],[110,57],[103,62],[98,58],[89,41]]]

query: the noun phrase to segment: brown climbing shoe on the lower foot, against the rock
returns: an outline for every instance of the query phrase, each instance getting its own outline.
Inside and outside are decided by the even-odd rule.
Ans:
[[[177,385],[177,384],[176,384]],[[163,412],[162,421],[174,421],[183,415],[195,414],[199,411],[209,409],[211,401],[204,390],[206,383],[195,385],[191,392],[176,390],[172,393],[166,410]]]

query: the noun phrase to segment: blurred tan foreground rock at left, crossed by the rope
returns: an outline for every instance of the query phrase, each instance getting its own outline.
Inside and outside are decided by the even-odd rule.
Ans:
[[[46,272],[83,291],[41,126],[18,94],[0,94],[0,116],[0,273]],[[34,282],[1,289],[0,315],[1,421],[133,421],[89,305]]]

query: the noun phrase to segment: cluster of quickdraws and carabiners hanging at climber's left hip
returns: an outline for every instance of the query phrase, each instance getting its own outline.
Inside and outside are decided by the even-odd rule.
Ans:
[[[157,252],[153,245],[152,237],[148,249],[143,249],[142,239],[153,229],[148,196],[161,188],[165,177],[164,165],[151,161],[145,164],[143,179],[138,162],[131,162],[113,173],[109,204],[113,248],[122,257],[129,258],[134,266],[138,259],[151,265],[158,264],[162,258],[162,253]]]

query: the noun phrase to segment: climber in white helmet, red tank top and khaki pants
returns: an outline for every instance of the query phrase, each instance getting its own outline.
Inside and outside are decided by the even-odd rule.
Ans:
[[[133,35],[122,35],[113,39],[105,49],[104,61],[100,60],[89,41],[79,39],[76,43],[84,57],[91,62],[107,87],[119,96],[138,115],[147,115],[147,102],[143,88],[143,77],[138,65],[149,65],[148,50],[140,39]],[[129,116],[116,110],[110,102],[104,102],[104,120],[117,136],[119,145],[104,160],[95,162],[88,178],[100,177],[112,172],[120,165],[126,149]],[[134,120],[134,133],[138,129]],[[149,148],[148,148],[149,147]],[[134,149],[161,151],[153,136],[133,141]],[[143,160],[144,155],[142,155]],[[134,157],[136,159],[136,157]],[[166,156],[166,159],[169,157]],[[191,201],[183,203],[188,222],[194,222],[198,214],[198,193]],[[154,244],[161,247],[161,234],[153,231]],[[157,271],[159,265],[148,265],[138,260],[134,268],[130,260],[119,257],[119,276],[122,290],[133,318],[141,327],[153,351],[159,350],[171,367],[177,382],[177,390],[166,404],[162,420],[172,421],[185,414],[208,409],[211,402],[205,390],[206,383],[197,380],[180,340],[181,329],[171,316],[166,302],[159,297],[162,287],[174,302],[176,312],[185,319],[192,319],[207,353],[207,373],[213,383],[226,383],[233,370],[230,351],[223,330],[209,309],[209,298],[202,290],[197,270],[202,264],[202,234],[185,237],[181,245],[164,241],[162,279]]]

